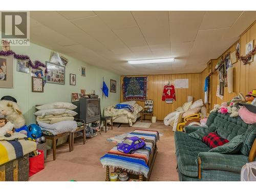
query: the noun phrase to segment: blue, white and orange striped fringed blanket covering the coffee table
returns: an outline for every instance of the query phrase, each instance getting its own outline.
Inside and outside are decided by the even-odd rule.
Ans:
[[[124,154],[119,152],[117,146],[115,146],[100,158],[103,167],[118,167],[136,175],[143,174],[147,178],[147,174],[150,170],[148,160],[156,142],[159,140],[159,133],[157,131],[134,130],[127,135],[127,137],[135,136],[145,139],[145,150],[136,150],[134,154]]]

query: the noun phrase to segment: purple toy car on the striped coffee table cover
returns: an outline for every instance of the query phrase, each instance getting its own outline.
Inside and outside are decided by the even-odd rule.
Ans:
[[[146,143],[138,137],[128,137],[117,145],[117,150],[125,154],[133,154],[135,150],[146,148]]]

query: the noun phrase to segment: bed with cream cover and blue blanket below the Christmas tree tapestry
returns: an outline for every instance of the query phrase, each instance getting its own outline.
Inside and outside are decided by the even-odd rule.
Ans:
[[[129,123],[130,126],[140,118],[142,106],[136,101],[126,101],[117,105],[110,105],[104,109],[104,116],[113,117],[114,123]]]

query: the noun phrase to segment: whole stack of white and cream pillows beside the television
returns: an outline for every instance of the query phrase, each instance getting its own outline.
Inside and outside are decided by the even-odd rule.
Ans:
[[[36,121],[42,130],[49,131],[53,135],[65,132],[74,132],[77,123],[74,121],[76,112],[72,111],[77,106],[68,102],[54,102],[36,106],[39,110],[34,113]]]

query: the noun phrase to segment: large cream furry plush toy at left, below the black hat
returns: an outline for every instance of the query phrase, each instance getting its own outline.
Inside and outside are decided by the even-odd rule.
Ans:
[[[25,125],[25,118],[16,102],[10,100],[0,101],[0,116],[14,124],[14,128]]]

